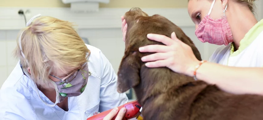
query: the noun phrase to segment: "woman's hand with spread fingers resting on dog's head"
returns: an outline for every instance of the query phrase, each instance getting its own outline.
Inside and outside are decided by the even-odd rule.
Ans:
[[[194,55],[191,47],[179,40],[174,32],[171,34],[171,38],[158,34],[147,34],[147,38],[165,44],[139,48],[140,52],[156,52],[141,58],[143,62],[147,62],[145,64],[147,67],[167,67],[174,72],[189,76],[193,75],[199,60]]]

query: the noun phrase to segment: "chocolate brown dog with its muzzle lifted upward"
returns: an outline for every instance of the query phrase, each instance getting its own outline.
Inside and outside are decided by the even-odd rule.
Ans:
[[[118,92],[135,90],[143,106],[143,120],[263,120],[263,96],[226,93],[169,68],[145,66],[141,57],[153,53],[140,53],[139,47],[162,44],[147,39],[148,33],[171,37],[175,32],[201,60],[191,39],[171,21],[160,15],[149,17],[140,8],[126,12],[125,20],[128,28],[118,72]]]

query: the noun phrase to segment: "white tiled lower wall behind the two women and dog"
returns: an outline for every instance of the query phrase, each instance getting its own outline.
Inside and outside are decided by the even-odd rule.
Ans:
[[[202,58],[209,59],[209,56],[218,46],[200,42],[194,34],[194,27],[182,29],[196,44]],[[0,87],[18,62],[13,56],[13,51],[17,46],[18,32],[19,30],[0,30]],[[125,48],[120,28],[80,29],[78,33],[81,37],[88,38],[90,45],[99,48],[104,53],[117,73]]]

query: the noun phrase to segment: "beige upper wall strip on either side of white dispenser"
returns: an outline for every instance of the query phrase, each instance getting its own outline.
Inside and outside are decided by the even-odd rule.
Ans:
[[[0,7],[70,7],[61,0],[0,0]],[[110,0],[102,8],[184,8],[187,0]]]

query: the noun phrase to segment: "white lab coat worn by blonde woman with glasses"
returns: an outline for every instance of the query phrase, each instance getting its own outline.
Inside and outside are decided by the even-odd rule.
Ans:
[[[91,51],[88,62],[91,76],[80,96],[68,98],[67,112],[41,102],[35,84],[23,74],[18,62],[0,90],[0,120],[86,120],[127,103],[126,94],[117,92],[117,76],[108,59],[100,49],[87,47]],[[54,104],[38,91],[45,102]]]

